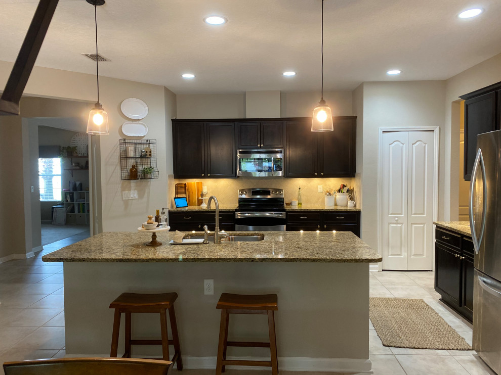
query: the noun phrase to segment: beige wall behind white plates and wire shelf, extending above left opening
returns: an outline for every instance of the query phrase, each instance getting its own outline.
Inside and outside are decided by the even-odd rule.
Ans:
[[[0,87],[5,85],[11,68],[11,63],[0,62]],[[105,231],[134,230],[144,221],[146,215],[154,213],[156,208],[166,204],[165,106],[166,103],[172,102],[172,96],[165,98],[166,92],[163,86],[107,77],[100,79],[100,90],[101,103],[108,112],[110,122],[110,135],[99,139],[98,167],[101,169],[102,181],[97,188],[102,192],[102,206],[99,207],[103,215],[102,227]],[[35,67],[25,94],[94,103],[95,76]],[[157,165],[160,171],[158,179],[137,182],[120,180],[118,139],[122,136],[119,127],[128,119],[121,114],[119,106],[127,98],[140,98],[149,107],[148,116],[142,121],[149,129],[146,138],[157,139]],[[13,138],[19,136],[9,135]],[[17,140],[14,139],[13,142]],[[6,170],[10,168],[7,167]],[[4,170],[0,172],[4,174]],[[138,199],[122,201],[123,190],[137,190]]]

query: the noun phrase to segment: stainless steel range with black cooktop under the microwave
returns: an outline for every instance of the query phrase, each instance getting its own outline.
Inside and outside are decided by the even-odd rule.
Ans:
[[[282,189],[238,190],[235,230],[285,230],[285,223]]]

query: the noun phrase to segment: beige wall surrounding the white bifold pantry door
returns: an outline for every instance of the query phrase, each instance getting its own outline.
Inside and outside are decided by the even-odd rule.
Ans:
[[[364,82],[362,153],[362,239],[378,249],[378,170],[380,127],[445,127],[444,81]],[[445,140],[440,144],[439,219],[443,217]],[[358,160],[357,160],[358,163]]]

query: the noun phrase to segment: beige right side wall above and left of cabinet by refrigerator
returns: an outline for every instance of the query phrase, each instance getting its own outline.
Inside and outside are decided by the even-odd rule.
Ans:
[[[459,148],[460,123],[452,116],[453,102],[459,100],[460,95],[475,91],[479,88],[501,81],[501,54],[477,64],[446,81],[445,91],[445,128],[441,134],[445,138],[444,158],[445,191],[450,199],[444,205],[444,220],[458,219],[458,195],[460,177],[459,173]],[[457,117],[456,117],[457,119]]]

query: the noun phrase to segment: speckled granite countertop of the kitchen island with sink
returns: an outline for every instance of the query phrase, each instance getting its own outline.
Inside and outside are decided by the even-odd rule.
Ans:
[[[175,232],[103,232],[46,254],[45,262],[381,262],[377,251],[352,232],[265,231],[257,242],[169,245]],[[229,232],[235,235],[238,232]],[[251,232],[244,232],[251,234]],[[190,235],[192,233],[189,233]],[[242,233],[243,234],[243,233]],[[195,235],[203,236],[203,232]]]

